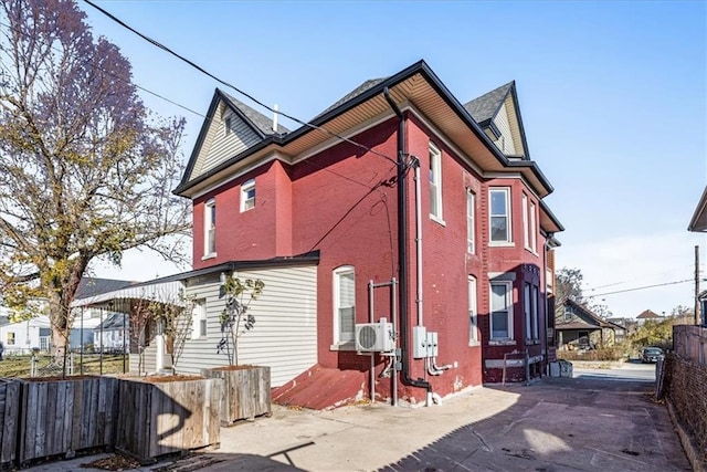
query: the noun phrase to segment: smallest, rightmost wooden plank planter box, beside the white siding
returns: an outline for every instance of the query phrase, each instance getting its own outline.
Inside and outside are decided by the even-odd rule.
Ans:
[[[223,379],[221,423],[233,426],[244,419],[272,415],[270,367],[229,366],[203,369],[201,375]]]

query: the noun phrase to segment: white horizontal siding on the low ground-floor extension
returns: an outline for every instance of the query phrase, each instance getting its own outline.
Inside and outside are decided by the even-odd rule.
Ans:
[[[271,385],[278,387],[317,363],[317,268],[279,268],[242,271],[241,280],[261,279],[263,295],[251,305],[255,327],[239,338],[239,364],[271,367]],[[219,317],[225,298],[220,297],[219,274],[189,281],[187,295],[205,300],[207,337],[189,339],[177,364],[181,374],[225,366],[225,353],[217,353],[221,340]],[[155,371],[156,343],[146,349],[146,371]],[[137,371],[135,355],[130,370]],[[134,367],[135,366],[135,367]],[[134,370],[135,368],[135,370]]]

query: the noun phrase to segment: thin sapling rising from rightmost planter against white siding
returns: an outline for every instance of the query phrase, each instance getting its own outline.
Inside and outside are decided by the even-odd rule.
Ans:
[[[251,302],[263,294],[265,283],[260,279],[246,279],[229,275],[223,285],[226,296],[225,308],[221,313],[222,337],[217,346],[218,353],[225,353],[230,365],[239,365],[239,338],[255,327],[255,316],[250,313]]]

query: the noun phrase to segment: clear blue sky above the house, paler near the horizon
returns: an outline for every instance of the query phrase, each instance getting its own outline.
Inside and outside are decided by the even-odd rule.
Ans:
[[[705,266],[707,240],[686,228],[707,182],[706,2],[98,4],[302,119],[420,59],[463,103],[515,80],[530,156],[556,189],[546,201],[567,229],[558,266],[581,269],[587,294],[618,316],[692,306],[692,283],[602,293],[693,277],[696,244]],[[80,6],[94,34],[130,60],[138,85],[205,113],[213,80]],[[188,155],[203,118],[144,98],[187,118]],[[155,261],[145,273],[145,256],[127,254],[122,273],[96,272],[178,272]]]

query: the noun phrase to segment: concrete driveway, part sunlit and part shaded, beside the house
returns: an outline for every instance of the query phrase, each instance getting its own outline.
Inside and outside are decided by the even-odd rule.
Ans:
[[[276,407],[272,418],[222,428],[218,451],[141,470],[690,470],[652,387],[591,376],[546,378],[467,390],[430,408]],[[95,458],[43,470],[86,471],[78,464]]]

